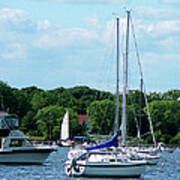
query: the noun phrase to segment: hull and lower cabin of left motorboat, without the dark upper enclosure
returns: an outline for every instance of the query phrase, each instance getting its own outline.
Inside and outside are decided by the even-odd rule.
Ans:
[[[19,130],[1,138],[1,164],[43,164],[55,146],[36,146]]]

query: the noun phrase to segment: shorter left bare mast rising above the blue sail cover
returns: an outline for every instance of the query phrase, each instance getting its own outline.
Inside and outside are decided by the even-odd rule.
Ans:
[[[117,61],[116,61],[116,114],[115,114],[115,127],[114,131],[117,132],[119,129],[119,18],[117,21]]]

